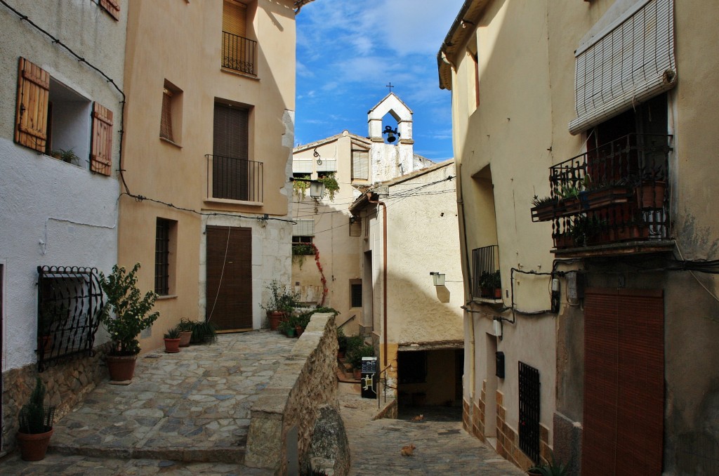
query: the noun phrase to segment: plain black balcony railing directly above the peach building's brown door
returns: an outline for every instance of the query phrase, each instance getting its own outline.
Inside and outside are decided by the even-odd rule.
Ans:
[[[211,198],[262,201],[262,163],[253,160],[206,155]]]

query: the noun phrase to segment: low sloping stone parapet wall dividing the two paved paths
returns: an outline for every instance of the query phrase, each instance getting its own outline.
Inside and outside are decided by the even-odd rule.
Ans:
[[[252,407],[244,464],[284,474],[287,437],[293,427],[298,459],[306,461],[320,406],[339,409],[336,356],[334,314],[316,313]]]

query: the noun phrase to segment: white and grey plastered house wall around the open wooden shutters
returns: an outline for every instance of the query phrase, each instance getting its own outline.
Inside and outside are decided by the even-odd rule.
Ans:
[[[122,89],[127,9],[121,3],[116,21],[91,1],[9,2]],[[0,262],[6,274],[2,347],[3,370],[7,370],[37,362],[37,266],[87,266],[108,273],[116,262],[120,190],[114,170],[119,160],[122,95],[6,6],[0,6],[0,25]],[[54,144],[74,147],[81,166],[13,142],[19,57],[82,96],[77,106],[84,117],[70,128],[84,129],[86,137],[65,147]],[[91,173],[86,163],[90,101],[114,113],[111,177]],[[61,117],[56,122],[58,128],[68,126]],[[95,343],[106,340],[101,328]]]

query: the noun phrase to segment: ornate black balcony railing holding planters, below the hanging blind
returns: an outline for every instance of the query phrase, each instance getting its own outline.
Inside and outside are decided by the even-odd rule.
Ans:
[[[552,221],[557,249],[668,239],[671,151],[672,136],[629,134],[554,165],[532,219]]]

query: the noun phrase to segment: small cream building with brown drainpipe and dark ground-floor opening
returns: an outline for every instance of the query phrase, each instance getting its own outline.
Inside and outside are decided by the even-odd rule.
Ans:
[[[462,402],[456,177],[452,161],[439,163],[378,183],[350,207],[363,224],[365,325],[402,406]]]

